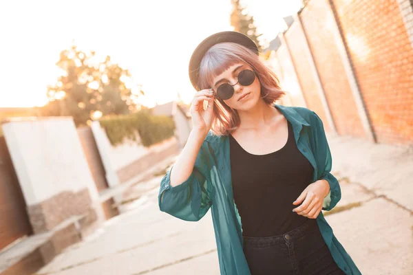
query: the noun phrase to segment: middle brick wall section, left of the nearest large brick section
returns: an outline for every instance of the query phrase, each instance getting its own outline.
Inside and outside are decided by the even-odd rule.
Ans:
[[[335,19],[328,0],[310,1],[299,16],[337,132],[366,137],[335,41]]]

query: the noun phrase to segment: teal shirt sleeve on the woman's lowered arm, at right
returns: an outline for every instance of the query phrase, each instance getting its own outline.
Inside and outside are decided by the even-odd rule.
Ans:
[[[326,179],[328,184],[330,184],[330,192],[324,198],[323,210],[332,210],[339,200],[341,199],[341,188],[337,178],[332,175],[332,157],[330,153],[330,147],[328,146],[326,133],[324,131],[324,124],[321,118],[314,113],[314,123],[315,127],[313,129],[315,136],[315,152],[317,159],[317,168],[319,173],[319,179]]]

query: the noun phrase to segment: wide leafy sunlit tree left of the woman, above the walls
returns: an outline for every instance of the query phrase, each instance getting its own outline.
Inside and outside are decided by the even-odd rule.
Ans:
[[[120,115],[136,109],[134,99],[138,95],[125,84],[131,75],[112,63],[110,56],[96,62],[95,52],[82,52],[72,45],[61,52],[56,65],[62,74],[55,85],[47,87],[49,102],[42,115],[71,115],[78,126],[91,120],[96,111]]]

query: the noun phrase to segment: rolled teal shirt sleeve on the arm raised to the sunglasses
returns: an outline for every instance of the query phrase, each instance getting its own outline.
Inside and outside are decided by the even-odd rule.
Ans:
[[[202,148],[198,153],[198,160],[201,153]],[[184,221],[199,221],[212,206],[211,180],[208,175],[202,175],[200,169],[194,166],[187,180],[171,187],[172,169],[173,166],[160,181],[158,195],[160,211]]]

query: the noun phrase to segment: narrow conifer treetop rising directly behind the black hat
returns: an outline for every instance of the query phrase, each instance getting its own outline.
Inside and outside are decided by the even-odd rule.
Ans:
[[[258,37],[262,34],[257,34],[257,28],[255,27],[254,18],[248,15],[246,9],[241,6],[240,0],[231,0],[233,5],[233,11],[231,12],[231,25],[234,27],[235,32],[241,32],[248,36],[252,41],[257,44],[258,50],[261,52],[262,47]]]

